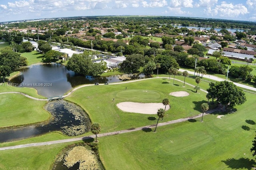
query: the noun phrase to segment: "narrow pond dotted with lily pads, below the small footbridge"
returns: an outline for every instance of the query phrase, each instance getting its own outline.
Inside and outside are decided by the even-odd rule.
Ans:
[[[61,131],[68,136],[86,133],[90,129],[90,119],[84,110],[64,100],[48,102],[44,107],[52,114],[48,123],[30,125],[0,131],[0,143],[17,141],[28,137],[35,137],[51,131]]]

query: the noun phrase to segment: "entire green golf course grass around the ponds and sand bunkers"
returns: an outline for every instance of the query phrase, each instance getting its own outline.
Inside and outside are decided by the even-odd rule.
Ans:
[[[99,122],[100,133],[135,129],[156,125],[158,115],[122,111],[117,104],[136,102],[142,104],[162,103],[170,100],[170,109],[166,110],[159,123],[200,115],[202,103],[207,103],[206,93],[209,82],[201,81],[197,93],[188,84],[183,87],[183,76],[176,76],[175,83],[168,75],[148,78],[140,81],[114,83],[79,88],[64,100],[82,107],[90,120]],[[177,79],[180,79],[178,81]],[[196,85],[194,78],[187,77],[186,82]],[[0,86],[0,92],[23,92],[36,98],[39,96],[32,88]],[[172,92],[187,92],[188,96],[172,96]],[[68,93],[68,92],[67,92]],[[214,112],[188,121],[159,126],[139,131],[108,135],[98,138],[98,153],[107,170],[162,170],[162,169],[251,169],[254,158],[250,152],[255,137],[255,94],[246,93],[247,101],[236,106],[233,113]],[[113,100],[114,99],[114,100]],[[0,127],[22,126],[47,121],[50,114],[43,109],[47,101],[36,101],[21,94],[1,94]],[[209,104],[210,109],[216,104]],[[26,110],[26,111],[25,111]],[[219,117],[222,115],[222,117]],[[91,132],[77,137],[93,135]],[[100,135],[100,134],[99,134]],[[40,143],[70,139],[59,131],[45,135],[1,143],[0,147]],[[0,150],[0,169],[46,170],[52,166],[68,145],[89,143],[92,140],[72,141],[53,145]]]

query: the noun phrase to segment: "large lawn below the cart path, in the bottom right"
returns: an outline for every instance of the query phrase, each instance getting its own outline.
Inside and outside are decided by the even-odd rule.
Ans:
[[[158,127],[156,132],[136,131],[99,138],[106,169],[251,169],[255,136],[254,94],[238,111],[206,115],[204,121]],[[184,106],[184,105],[182,105]],[[219,113],[222,114],[222,113]],[[248,131],[242,127],[248,126]],[[154,130],[154,129],[152,129]]]

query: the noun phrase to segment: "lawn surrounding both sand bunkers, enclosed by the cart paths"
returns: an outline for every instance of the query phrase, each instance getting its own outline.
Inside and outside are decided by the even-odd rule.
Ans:
[[[204,92],[196,94],[192,87],[183,88],[182,86],[183,83],[178,81],[173,85],[172,81],[168,82],[168,78],[148,79],[127,84],[89,86],[76,90],[66,100],[84,108],[92,122],[100,122],[103,133],[151,125],[153,122],[149,117],[157,117],[156,114],[123,112],[116,107],[119,102],[162,103],[164,98],[169,98],[171,109],[166,112],[164,121],[198,115],[201,113],[200,105],[207,101],[206,94]],[[125,90],[126,87],[127,90]],[[186,91],[190,95],[183,98],[169,95],[176,91]],[[112,102],[113,98],[114,102]],[[180,107],[180,103],[183,102],[186,105]]]

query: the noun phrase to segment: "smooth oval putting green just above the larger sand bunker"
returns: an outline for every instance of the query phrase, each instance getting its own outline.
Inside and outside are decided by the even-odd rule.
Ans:
[[[118,98],[125,98],[126,100],[134,100],[134,99],[159,99],[160,98],[159,92],[152,91],[152,90],[123,90],[116,94]]]

